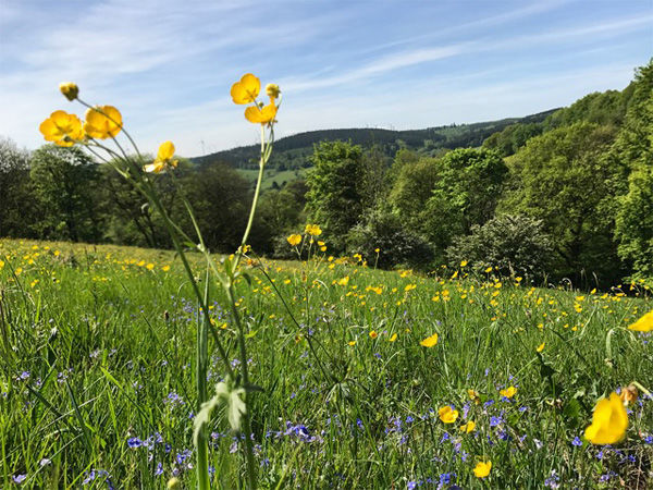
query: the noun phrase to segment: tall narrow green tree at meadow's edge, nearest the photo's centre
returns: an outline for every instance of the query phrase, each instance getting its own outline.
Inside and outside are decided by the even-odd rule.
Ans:
[[[362,212],[362,149],[350,143],[322,142],[310,160],[313,169],[306,180],[309,219],[320,224],[333,246],[342,250],[347,232]]]

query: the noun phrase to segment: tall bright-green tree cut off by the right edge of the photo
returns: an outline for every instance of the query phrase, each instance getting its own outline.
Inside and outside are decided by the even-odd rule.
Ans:
[[[615,236],[633,277],[653,280],[653,60],[637,71],[626,122],[611,151],[630,170]]]

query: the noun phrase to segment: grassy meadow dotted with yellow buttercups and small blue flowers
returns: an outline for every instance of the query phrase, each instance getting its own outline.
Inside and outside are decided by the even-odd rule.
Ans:
[[[236,304],[262,390],[250,402],[260,487],[653,481],[643,390],[653,384],[652,339],[627,329],[652,309],[648,290],[537,289],[492,272],[466,277],[467,267],[423,278],[328,252],[243,267],[252,287],[236,284]],[[164,488],[173,477],[195,487],[202,313],[183,278],[167,252],[0,242],[3,487]],[[236,366],[233,317],[213,297]],[[210,385],[224,375],[219,360]],[[613,391],[630,401],[626,437],[592,445],[586,428]],[[210,433],[213,485],[231,488],[242,480],[243,438],[224,412]]]

